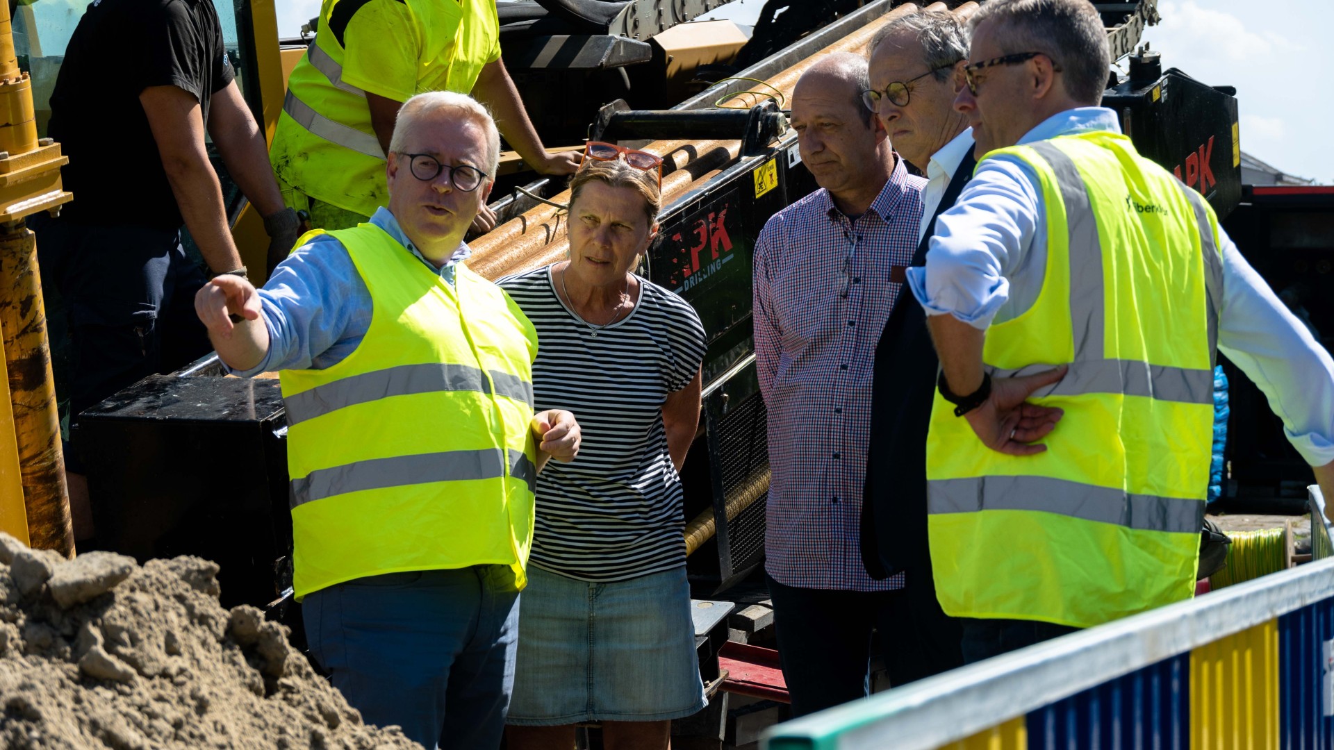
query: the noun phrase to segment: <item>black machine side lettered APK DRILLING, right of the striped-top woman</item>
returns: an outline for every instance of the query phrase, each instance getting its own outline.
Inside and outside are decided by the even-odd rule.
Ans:
[[[682,476],[686,518],[711,507],[716,528],[687,563],[696,594],[726,590],[764,559],[768,420],[754,364],[751,266],[770,216],[815,188],[788,133],[668,207],[648,251],[650,279],[688,300],[708,336],[706,439],[696,440]]]

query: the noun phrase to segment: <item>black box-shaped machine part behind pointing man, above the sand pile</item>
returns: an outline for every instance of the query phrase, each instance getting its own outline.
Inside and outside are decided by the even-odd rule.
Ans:
[[[79,418],[96,546],[199,555],[224,606],[264,606],[291,577],[287,419],[277,380],[151,375]]]

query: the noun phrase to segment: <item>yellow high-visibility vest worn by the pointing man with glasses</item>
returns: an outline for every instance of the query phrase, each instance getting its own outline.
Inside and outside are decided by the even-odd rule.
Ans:
[[[328,234],[374,312],[347,359],[280,374],[296,599],[484,563],[511,566],[522,589],[536,483],[532,323],[464,264],[451,288],[374,224]]]

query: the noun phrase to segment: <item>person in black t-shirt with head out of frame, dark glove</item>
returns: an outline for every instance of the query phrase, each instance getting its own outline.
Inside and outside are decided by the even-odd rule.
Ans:
[[[73,202],[56,219],[29,220],[43,280],[67,310],[71,422],[160,367],[208,351],[191,307],[205,279],[181,248],[181,223],[212,274],[244,274],[205,131],[272,243],[295,244],[299,222],[283,206],[264,132],[232,79],[209,0],[95,0],[75,28],[48,128],[69,156],[63,176]],[[171,362],[164,352],[180,354]],[[75,538],[87,539],[77,446],[67,443],[65,468]]]

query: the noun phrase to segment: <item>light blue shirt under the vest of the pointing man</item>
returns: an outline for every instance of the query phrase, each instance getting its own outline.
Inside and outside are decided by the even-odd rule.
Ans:
[[[384,230],[454,286],[455,264],[471,251],[464,243],[440,268],[427,260],[403,234],[388,208],[378,208],[371,223]],[[371,330],[371,291],[343,243],[316,235],[277,264],[259,290],[261,315],[268,328],[268,354],[249,370],[233,375],[253,378],[275,370],[324,370],[347,359]]]

